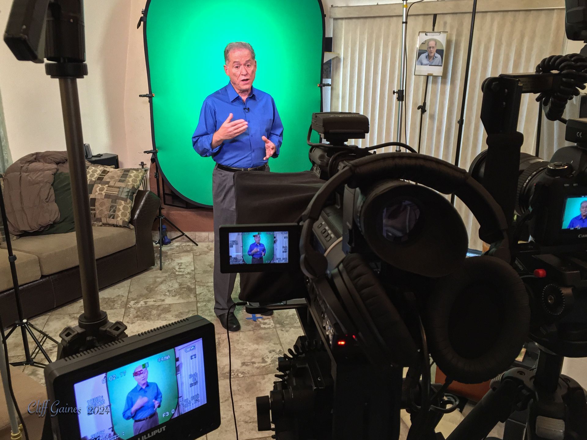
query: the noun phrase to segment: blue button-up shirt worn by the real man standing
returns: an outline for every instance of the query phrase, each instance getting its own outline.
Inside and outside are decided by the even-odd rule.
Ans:
[[[245,107],[249,111],[245,111]],[[232,113],[232,121],[244,119],[248,122],[247,131],[237,137],[228,139],[216,148],[212,148],[212,136]],[[265,136],[275,144],[275,154],[284,137],[275,102],[271,95],[251,88],[246,104],[231,83],[204,100],[200,111],[200,120],[191,138],[195,151],[203,157],[211,156],[218,164],[234,168],[255,168],[265,163]]]

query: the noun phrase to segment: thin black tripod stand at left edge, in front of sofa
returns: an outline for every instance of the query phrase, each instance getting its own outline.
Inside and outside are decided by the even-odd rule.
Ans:
[[[0,211],[2,212],[2,225],[4,225],[4,231],[6,234],[6,249],[8,249],[8,261],[10,262],[10,271],[12,273],[12,286],[14,286],[16,310],[18,313],[18,321],[16,321],[13,324],[12,328],[8,331],[8,333],[6,333],[5,340],[8,340],[8,338],[11,336],[12,333],[14,333],[16,329],[20,329],[22,335],[22,345],[25,350],[25,360],[19,362],[12,362],[11,365],[14,365],[15,367],[19,365],[33,365],[33,367],[45,368],[46,364],[35,361],[35,357],[37,356],[37,354],[39,354],[39,351],[41,351],[43,356],[45,356],[47,362],[50,363],[51,359],[49,358],[49,355],[43,348],[43,343],[45,343],[45,341],[48,339],[53,341],[55,344],[57,344],[58,342],[52,337],[50,337],[48,334],[46,334],[44,331],[38,329],[33,324],[31,324],[29,320],[23,318],[21,295],[18,287],[18,276],[16,275],[16,255],[14,255],[14,253],[12,252],[12,243],[10,240],[10,232],[8,231],[8,219],[6,218],[2,188],[0,188]],[[38,339],[32,330],[35,330],[37,333],[39,333],[41,335],[41,338]],[[26,339],[27,333],[29,334],[29,336],[31,336],[36,346],[35,350],[33,350],[32,353],[29,349],[29,341],[28,339]]]

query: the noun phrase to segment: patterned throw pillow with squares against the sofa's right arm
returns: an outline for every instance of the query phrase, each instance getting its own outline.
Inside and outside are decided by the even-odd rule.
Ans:
[[[147,170],[101,165],[87,167],[87,190],[90,194],[90,216],[95,226],[130,227],[134,195]]]

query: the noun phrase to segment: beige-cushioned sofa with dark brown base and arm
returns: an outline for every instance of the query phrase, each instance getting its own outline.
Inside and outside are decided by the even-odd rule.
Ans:
[[[130,228],[93,226],[100,289],[155,264],[151,227],[160,199],[139,190]],[[75,232],[26,236],[12,242],[25,318],[82,296]],[[5,326],[17,319],[7,243],[0,245],[0,316]]]

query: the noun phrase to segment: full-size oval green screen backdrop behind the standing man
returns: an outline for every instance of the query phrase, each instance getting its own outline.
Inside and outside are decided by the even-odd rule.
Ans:
[[[228,84],[224,48],[233,41],[255,49],[253,87],[274,98],[284,124],[279,157],[269,160],[271,171],[310,169],[306,136],[312,113],[322,110],[319,0],[149,0],[145,16],[153,144],[158,165],[178,195],[212,205],[214,160],[200,157],[191,137],[205,97]]]

